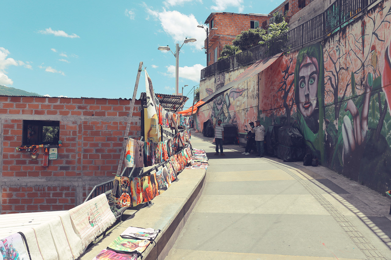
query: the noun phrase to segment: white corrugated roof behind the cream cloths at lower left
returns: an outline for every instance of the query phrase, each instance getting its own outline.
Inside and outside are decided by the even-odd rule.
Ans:
[[[0,215],[0,239],[4,239],[9,235],[25,230],[26,228],[38,226],[64,212],[66,212],[66,210]]]

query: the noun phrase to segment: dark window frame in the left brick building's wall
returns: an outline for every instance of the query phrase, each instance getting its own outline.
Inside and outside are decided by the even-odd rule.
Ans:
[[[28,141],[28,125],[38,126],[38,143],[30,143]],[[54,126],[58,127],[58,136],[53,138],[53,141],[42,141],[43,138],[43,126]],[[31,146],[39,144],[49,144],[49,145],[58,145],[60,139],[60,121],[54,120],[23,120],[22,121],[22,146]]]

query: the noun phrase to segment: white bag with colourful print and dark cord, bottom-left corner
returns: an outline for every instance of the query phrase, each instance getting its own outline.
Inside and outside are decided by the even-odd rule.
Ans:
[[[19,233],[0,240],[0,259],[30,260],[27,255],[22,236]]]

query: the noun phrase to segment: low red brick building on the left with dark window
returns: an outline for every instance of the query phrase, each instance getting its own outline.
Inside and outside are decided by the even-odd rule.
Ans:
[[[141,135],[139,100],[127,134],[130,100],[0,96],[0,102],[1,214],[81,204],[93,186],[117,172],[123,137]],[[43,135],[43,129],[53,137]],[[16,150],[32,142],[58,141],[62,146],[48,167],[42,166],[44,148],[37,148],[38,160]]]

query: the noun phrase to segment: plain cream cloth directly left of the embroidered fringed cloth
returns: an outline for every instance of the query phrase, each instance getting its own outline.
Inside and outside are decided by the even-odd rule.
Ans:
[[[81,239],[72,227],[69,212],[54,217],[49,221],[49,226],[59,260],[73,260],[83,253]]]

